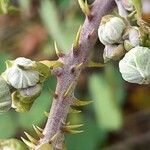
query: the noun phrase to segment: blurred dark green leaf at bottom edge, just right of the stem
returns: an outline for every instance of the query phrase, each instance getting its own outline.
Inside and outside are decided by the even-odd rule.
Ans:
[[[95,150],[95,147],[101,145],[107,137],[105,131],[101,130],[91,118],[83,117],[83,133],[66,135],[66,145],[69,150]]]

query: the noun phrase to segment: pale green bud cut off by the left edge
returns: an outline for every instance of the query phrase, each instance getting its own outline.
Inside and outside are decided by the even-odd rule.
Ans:
[[[0,77],[0,112],[8,111],[11,108],[11,94],[7,82]]]

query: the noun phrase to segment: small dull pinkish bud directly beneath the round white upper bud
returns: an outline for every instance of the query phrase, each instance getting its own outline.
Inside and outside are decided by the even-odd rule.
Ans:
[[[123,44],[120,45],[106,45],[103,53],[104,62],[109,60],[118,60],[125,53]]]

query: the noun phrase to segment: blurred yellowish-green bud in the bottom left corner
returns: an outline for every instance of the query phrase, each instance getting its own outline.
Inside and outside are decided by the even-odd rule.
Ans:
[[[28,150],[23,142],[17,139],[0,140],[1,150]]]

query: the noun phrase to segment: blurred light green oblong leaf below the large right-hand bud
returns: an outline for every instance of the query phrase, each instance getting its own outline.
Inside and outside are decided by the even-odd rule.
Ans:
[[[90,78],[89,88],[100,127],[108,131],[120,129],[122,125],[121,109],[114,96],[114,90],[105,78],[100,74],[93,75]]]

